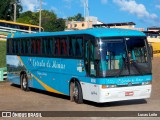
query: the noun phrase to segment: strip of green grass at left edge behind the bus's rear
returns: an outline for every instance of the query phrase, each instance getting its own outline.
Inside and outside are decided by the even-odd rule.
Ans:
[[[0,68],[6,67],[6,42],[0,41]]]

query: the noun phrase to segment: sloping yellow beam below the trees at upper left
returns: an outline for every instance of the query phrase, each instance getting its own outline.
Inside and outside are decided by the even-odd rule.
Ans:
[[[37,25],[31,25],[31,24],[25,24],[25,23],[13,22],[13,21],[6,21],[6,20],[0,20],[0,23],[8,23],[8,24],[13,24],[13,25],[22,25],[22,26],[27,26],[27,27],[39,28],[39,26],[37,26]]]

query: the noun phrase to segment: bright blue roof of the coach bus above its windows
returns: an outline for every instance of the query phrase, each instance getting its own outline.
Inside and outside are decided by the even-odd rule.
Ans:
[[[118,37],[118,36],[146,36],[143,32],[120,28],[91,28],[86,30],[61,31],[61,32],[40,32],[40,33],[15,33],[14,38],[25,37],[47,37],[47,36],[63,36],[63,35],[83,35],[88,34],[94,37]],[[8,38],[13,34],[8,35]]]

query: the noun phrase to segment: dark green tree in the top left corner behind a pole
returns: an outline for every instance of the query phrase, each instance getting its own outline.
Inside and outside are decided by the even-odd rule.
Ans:
[[[13,20],[14,19],[14,4],[17,4],[16,17],[19,17],[22,11],[22,6],[19,0],[1,0],[0,2],[0,19]]]

